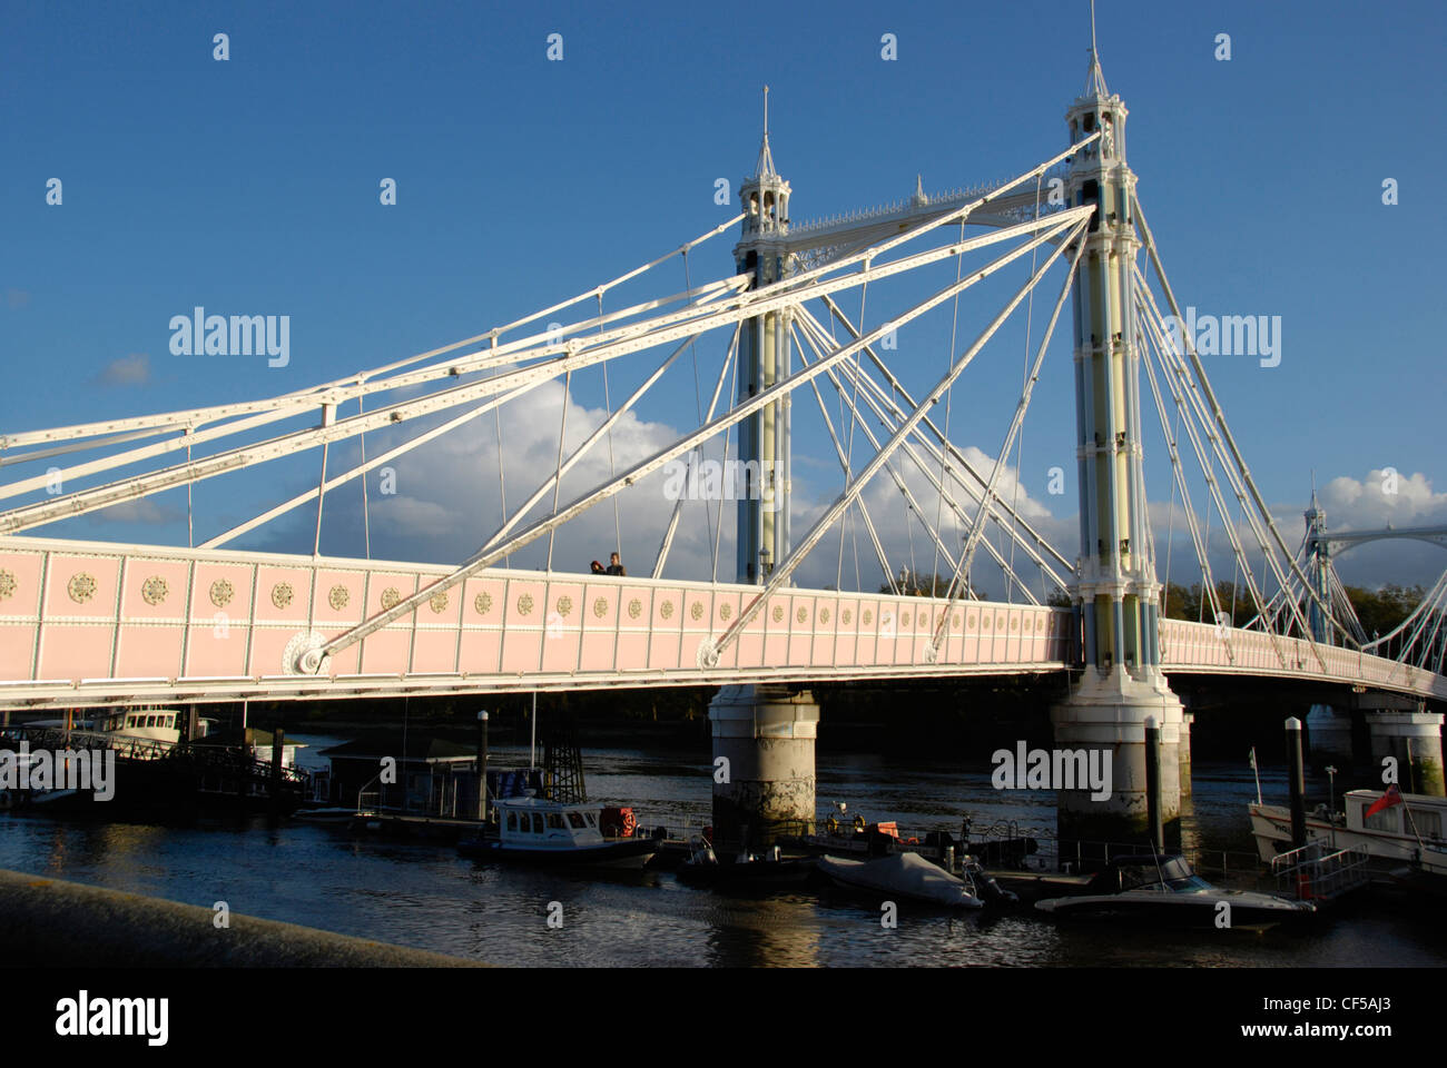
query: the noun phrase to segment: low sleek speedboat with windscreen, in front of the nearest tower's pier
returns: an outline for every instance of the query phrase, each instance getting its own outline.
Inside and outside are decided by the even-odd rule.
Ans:
[[[1229,907],[1227,907],[1229,906]],[[1120,919],[1184,928],[1263,931],[1308,919],[1311,902],[1291,902],[1253,890],[1221,890],[1195,874],[1185,857],[1114,857],[1069,897],[1048,897],[1035,907],[1059,919]]]

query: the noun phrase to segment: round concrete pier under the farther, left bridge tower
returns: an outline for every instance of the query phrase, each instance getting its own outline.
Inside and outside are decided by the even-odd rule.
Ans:
[[[713,734],[713,839],[770,845],[813,831],[819,706],[809,690],[725,686],[709,703]],[[781,826],[784,821],[793,828]]]

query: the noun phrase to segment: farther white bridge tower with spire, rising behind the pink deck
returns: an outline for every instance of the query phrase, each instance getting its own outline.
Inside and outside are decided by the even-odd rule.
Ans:
[[[768,145],[768,85],[764,87],[764,139],[754,174],[738,191],[744,205],[744,232],[734,259],[738,274],[752,275],[751,288],[763,288],[792,272],[789,234],[789,182],[774,168]],[[771,311],[745,320],[739,331],[739,399],[747,401],[787,378],[792,314]],[[739,424],[739,454],[747,485],[738,501],[738,582],[763,583],[789,554],[789,423],[790,401],[776,401]]]

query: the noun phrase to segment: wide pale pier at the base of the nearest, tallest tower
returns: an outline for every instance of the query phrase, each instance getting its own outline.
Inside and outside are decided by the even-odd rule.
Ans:
[[[1143,844],[1149,835],[1146,802],[1146,719],[1160,726],[1160,816],[1168,838],[1179,834],[1181,738],[1184,709],[1179,698],[1153,673],[1143,682],[1117,666],[1110,673],[1085,670],[1069,699],[1051,709],[1059,750],[1104,750],[1110,761],[1110,796],[1092,799],[1091,790],[1056,793],[1056,828],[1061,838],[1092,842]],[[1189,767],[1189,744],[1187,745]]]

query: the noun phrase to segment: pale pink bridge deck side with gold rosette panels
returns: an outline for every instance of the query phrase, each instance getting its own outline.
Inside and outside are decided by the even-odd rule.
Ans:
[[[1074,663],[1069,609],[781,589],[702,667],[757,586],[485,570],[327,660],[298,650],[446,566],[0,538],[0,708],[1037,674]],[[926,644],[943,612],[935,663]],[[1447,679],[1295,638],[1163,621],[1163,670],[1365,685]]]

